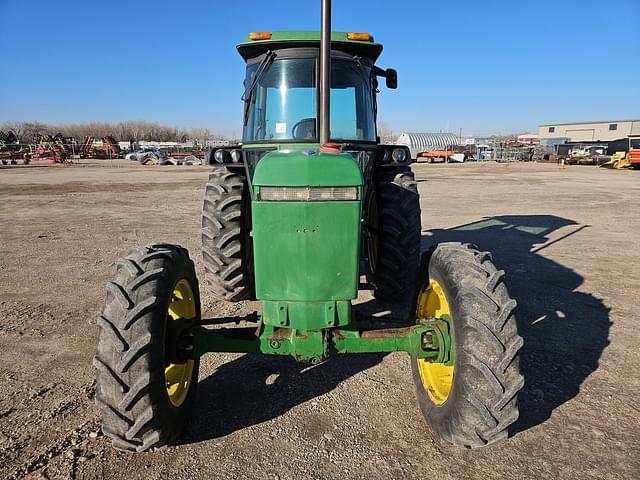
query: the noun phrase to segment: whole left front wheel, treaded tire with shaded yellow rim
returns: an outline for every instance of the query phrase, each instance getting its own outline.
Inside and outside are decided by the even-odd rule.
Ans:
[[[188,359],[179,320],[199,318],[198,281],[184,248],[137,247],[118,263],[98,317],[94,358],[102,431],[116,448],[142,452],[182,433],[199,362]]]

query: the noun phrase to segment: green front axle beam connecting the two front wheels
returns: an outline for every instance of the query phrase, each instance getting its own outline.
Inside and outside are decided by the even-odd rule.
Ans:
[[[207,352],[290,355],[318,363],[336,353],[407,352],[429,362],[452,364],[448,316],[428,318],[400,328],[301,330],[259,323],[257,327],[191,329],[194,357]],[[207,322],[217,323],[217,322]]]

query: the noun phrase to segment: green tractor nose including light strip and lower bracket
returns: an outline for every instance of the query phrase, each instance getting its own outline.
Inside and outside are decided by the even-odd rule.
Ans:
[[[265,324],[318,329],[349,322],[362,185],[348,155],[273,152],[260,161],[251,235]]]

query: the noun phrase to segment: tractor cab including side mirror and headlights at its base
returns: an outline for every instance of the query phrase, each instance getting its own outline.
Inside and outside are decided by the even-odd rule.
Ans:
[[[237,49],[246,62],[242,144],[215,149],[209,163],[233,163],[235,158],[246,162],[253,177],[269,152],[318,151],[320,32],[252,32]],[[375,65],[382,49],[368,33],[331,34],[329,139],[340,152],[351,152],[363,170],[374,157],[386,163],[410,161],[403,147],[378,145],[378,79],[397,88],[397,72]],[[242,156],[234,152],[239,147]]]

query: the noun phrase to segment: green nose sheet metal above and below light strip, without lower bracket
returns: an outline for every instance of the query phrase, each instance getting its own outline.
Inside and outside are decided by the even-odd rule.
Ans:
[[[357,296],[362,174],[349,155],[274,152],[253,177],[256,296],[267,301]],[[355,201],[260,201],[261,187],[358,188]]]

